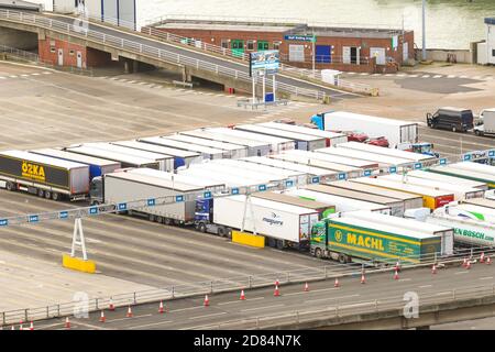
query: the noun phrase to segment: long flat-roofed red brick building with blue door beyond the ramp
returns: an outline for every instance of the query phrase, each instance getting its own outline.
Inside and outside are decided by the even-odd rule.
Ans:
[[[414,58],[414,32],[228,21],[166,20],[154,29],[243,54],[279,50],[292,66],[391,73]]]

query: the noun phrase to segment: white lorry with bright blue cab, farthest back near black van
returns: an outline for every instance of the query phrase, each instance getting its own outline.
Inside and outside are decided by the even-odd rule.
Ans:
[[[372,139],[385,136],[391,147],[399,147],[403,143],[418,142],[418,123],[410,121],[330,111],[312,116],[311,123],[324,131],[359,130]]]

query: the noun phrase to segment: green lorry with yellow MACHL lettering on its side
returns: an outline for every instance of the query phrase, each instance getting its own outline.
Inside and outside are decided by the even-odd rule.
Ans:
[[[418,264],[441,253],[441,238],[372,221],[331,217],[312,227],[310,251],[340,263]]]

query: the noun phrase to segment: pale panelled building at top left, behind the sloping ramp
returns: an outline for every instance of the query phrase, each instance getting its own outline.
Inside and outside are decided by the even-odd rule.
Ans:
[[[136,28],[136,0],[53,0],[53,11]]]

